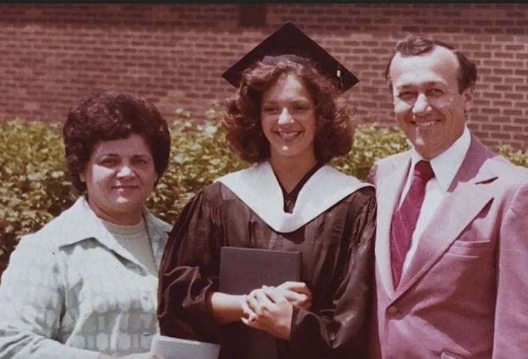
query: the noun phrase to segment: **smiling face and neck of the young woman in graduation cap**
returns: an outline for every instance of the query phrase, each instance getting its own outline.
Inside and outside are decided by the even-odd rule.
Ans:
[[[272,161],[288,159],[315,164],[315,105],[310,92],[296,76],[281,76],[263,92],[261,124],[270,142]]]

